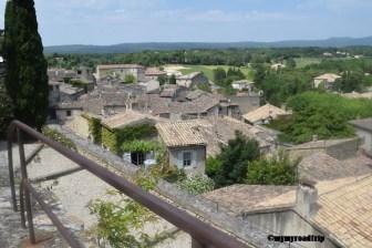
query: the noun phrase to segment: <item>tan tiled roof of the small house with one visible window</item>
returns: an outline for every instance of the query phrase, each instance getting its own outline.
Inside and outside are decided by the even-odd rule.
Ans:
[[[156,128],[168,147],[206,145],[206,141],[193,122],[158,123]]]

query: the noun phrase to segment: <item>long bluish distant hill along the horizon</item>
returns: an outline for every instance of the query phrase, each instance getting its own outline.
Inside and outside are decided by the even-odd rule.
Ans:
[[[45,53],[130,53],[144,50],[190,50],[190,49],[244,49],[244,48],[344,48],[372,45],[372,37],[366,38],[330,38],[327,40],[293,40],[276,42],[148,42],[122,43],[114,45],[53,45],[45,46]]]

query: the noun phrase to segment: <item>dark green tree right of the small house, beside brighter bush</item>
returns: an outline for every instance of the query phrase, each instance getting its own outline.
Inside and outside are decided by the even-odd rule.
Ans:
[[[236,137],[221,147],[221,153],[216,157],[220,164],[215,163],[215,172],[208,176],[214,179],[216,187],[244,183],[247,175],[247,163],[259,156],[258,142],[237,131]],[[210,170],[213,169],[207,169],[207,172]]]

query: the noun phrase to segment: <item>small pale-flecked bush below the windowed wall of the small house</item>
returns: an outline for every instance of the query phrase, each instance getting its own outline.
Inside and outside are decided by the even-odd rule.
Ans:
[[[211,192],[215,187],[215,183],[207,176],[194,175],[178,182],[178,186],[192,195],[200,195]]]

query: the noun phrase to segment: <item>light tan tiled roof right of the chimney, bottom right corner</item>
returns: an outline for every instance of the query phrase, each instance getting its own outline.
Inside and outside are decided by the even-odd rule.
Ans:
[[[313,221],[345,247],[372,247],[372,176],[320,195]]]

